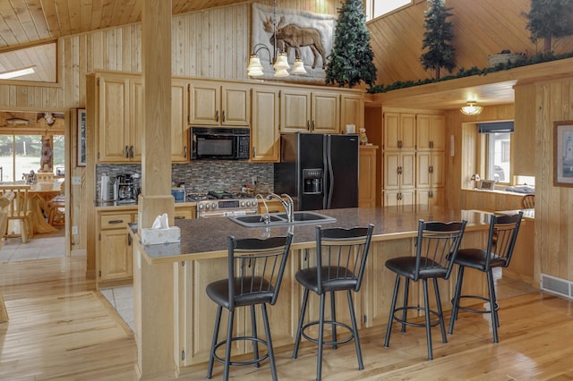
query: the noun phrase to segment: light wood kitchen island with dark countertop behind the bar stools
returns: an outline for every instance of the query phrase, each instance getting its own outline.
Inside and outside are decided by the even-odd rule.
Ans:
[[[363,288],[354,301],[356,316],[363,317],[360,319],[363,327],[387,323],[395,278],[384,263],[389,258],[415,254],[419,219],[465,219],[468,224],[462,247],[483,247],[489,226],[486,214],[442,207],[357,207],[320,212],[337,219],[335,223],[324,224],[324,227],[374,224]],[[133,232],[134,320],[140,377],[174,373],[184,376],[186,367],[209,359],[216,306],[207,297],[205,287],[227,277],[228,235],[240,239],[281,235],[289,229],[294,233],[279,299],[269,309],[274,345],[294,343],[301,302],[301,289],[294,275],[296,270],[312,263],[314,225],[249,229],[226,217],[181,220],[175,224],[181,229],[180,243],[142,246],[139,236]],[[465,291],[484,295],[483,276],[471,273],[466,274],[469,281],[465,284]],[[455,275],[452,275],[449,281],[440,283],[444,309],[450,309],[454,279]],[[411,294],[414,300],[422,298],[417,287]],[[318,315],[316,304],[316,301],[310,301],[313,317]],[[347,318],[344,309],[341,309],[341,315],[339,318]],[[235,325],[237,334],[250,329],[248,322],[249,316],[241,311]],[[234,343],[234,354],[249,350]]]

